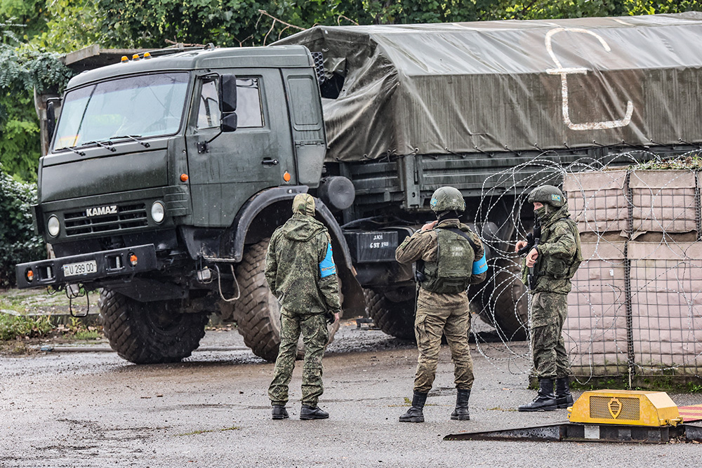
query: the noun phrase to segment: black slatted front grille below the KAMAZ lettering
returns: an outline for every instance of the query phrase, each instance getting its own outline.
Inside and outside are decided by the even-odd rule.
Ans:
[[[66,236],[90,234],[92,232],[109,232],[143,227],[148,225],[146,205],[134,203],[119,205],[116,214],[87,216],[85,210],[64,213]]]

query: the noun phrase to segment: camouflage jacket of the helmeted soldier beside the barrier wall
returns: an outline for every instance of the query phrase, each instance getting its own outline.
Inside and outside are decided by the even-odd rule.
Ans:
[[[567,206],[563,206],[543,222],[541,240],[536,246],[538,279],[534,293],[570,293],[571,280],[556,279],[552,274],[571,265],[578,250],[579,234],[567,221],[569,216]]]

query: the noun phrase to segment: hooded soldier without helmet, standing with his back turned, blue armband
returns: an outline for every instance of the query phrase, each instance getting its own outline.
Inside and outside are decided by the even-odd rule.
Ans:
[[[313,216],[312,196],[296,195],[293,216],[271,236],[265,259],[265,279],[282,306],[280,348],[268,389],[274,420],[289,417],[285,405],[300,332],[305,344],[300,419],[329,417],[317,406],[324,392],[322,356],[329,340],[325,314],[338,321],[341,305],[329,232]]]

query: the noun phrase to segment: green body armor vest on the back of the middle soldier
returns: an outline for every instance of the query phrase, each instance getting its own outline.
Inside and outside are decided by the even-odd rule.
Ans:
[[[468,289],[475,253],[470,241],[448,229],[437,233],[437,260],[424,263],[422,288],[432,293],[455,294]]]

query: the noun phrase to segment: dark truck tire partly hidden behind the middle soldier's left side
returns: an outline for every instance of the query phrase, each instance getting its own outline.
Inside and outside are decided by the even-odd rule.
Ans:
[[[414,341],[414,297],[392,302],[383,293],[364,289],[366,312],[380,330],[400,340]]]

